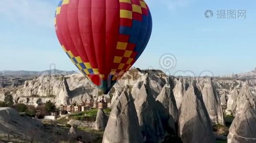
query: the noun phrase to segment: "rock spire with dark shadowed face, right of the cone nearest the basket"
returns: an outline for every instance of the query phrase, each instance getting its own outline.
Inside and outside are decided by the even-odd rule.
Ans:
[[[168,125],[169,112],[165,112],[161,102],[156,102],[147,87],[149,87],[149,82],[138,82],[133,86],[131,94],[142,135],[146,142],[154,143],[164,138],[164,126]],[[174,123],[174,121],[172,122]]]

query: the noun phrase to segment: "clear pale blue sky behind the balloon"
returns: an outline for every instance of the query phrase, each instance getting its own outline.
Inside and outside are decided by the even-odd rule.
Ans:
[[[255,0],[146,0],[153,31],[135,63],[170,74],[210,71],[214,75],[249,72],[256,67]],[[43,71],[54,63],[76,70],[60,47],[53,25],[58,0],[1,0],[0,71]],[[206,19],[205,10],[214,16]],[[246,19],[217,19],[217,10],[246,10]],[[170,53],[176,66],[164,70],[159,59]]]

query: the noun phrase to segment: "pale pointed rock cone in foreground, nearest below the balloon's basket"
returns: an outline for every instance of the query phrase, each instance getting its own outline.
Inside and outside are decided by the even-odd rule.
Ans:
[[[121,93],[112,108],[103,143],[143,143],[137,112],[128,90]]]

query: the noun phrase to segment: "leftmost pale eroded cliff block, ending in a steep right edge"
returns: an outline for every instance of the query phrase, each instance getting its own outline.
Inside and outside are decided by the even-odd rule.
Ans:
[[[69,86],[63,75],[41,76],[36,80],[27,81],[24,87],[17,90],[16,102],[38,105],[48,100],[57,105],[70,103]]]

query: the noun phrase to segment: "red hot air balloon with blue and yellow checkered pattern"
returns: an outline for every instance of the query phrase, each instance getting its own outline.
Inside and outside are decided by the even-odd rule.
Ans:
[[[55,29],[70,60],[106,94],[146,48],[152,18],[144,0],[61,0]]]

